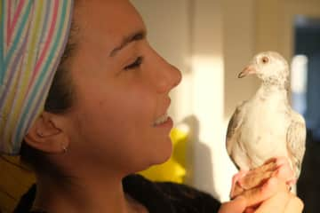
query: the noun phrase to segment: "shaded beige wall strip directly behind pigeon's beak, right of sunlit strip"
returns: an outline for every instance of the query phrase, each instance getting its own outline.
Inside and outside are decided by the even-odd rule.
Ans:
[[[224,2],[225,118],[228,120],[239,101],[249,99],[259,82],[253,76],[237,75],[255,53],[255,0]],[[239,90],[241,88],[241,90]]]

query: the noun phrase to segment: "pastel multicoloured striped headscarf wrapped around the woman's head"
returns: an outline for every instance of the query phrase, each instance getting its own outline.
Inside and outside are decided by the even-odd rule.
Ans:
[[[0,0],[0,153],[19,154],[44,110],[73,0]]]

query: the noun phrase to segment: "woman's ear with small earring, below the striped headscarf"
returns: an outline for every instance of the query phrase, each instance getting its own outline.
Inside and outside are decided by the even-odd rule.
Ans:
[[[24,140],[29,145],[44,153],[65,153],[69,144],[68,135],[60,119],[55,114],[44,112],[37,119]]]

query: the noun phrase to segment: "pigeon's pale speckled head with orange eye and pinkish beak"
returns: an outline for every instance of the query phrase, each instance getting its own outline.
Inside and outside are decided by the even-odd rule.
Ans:
[[[254,56],[238,77],[242,78],[252,74],[257,75],[262,81],[285,83],[289,76],[289,67],[284,57],[279,53],[264,51]]]

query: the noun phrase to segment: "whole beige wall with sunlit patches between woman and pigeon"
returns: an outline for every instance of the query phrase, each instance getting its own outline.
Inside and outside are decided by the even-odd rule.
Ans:
[[[192,128],[188,183],[228,199],[236,172],[225,150],[228,119],[237,103],[256,91],[254,77],[236,78],[258,51],[292,56],[295,14],[320,17],[319,0],[132,0],[149,40],[180,68],[171,113]]]

